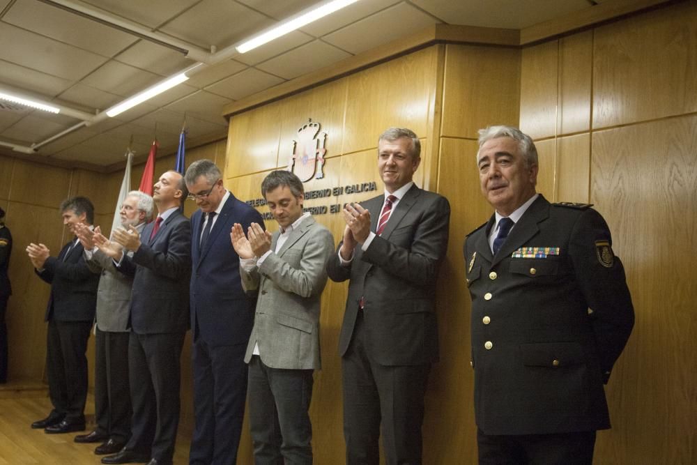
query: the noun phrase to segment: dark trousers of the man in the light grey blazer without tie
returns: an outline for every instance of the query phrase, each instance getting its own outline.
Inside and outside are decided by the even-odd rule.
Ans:
[[[252,357],[247,392],[256,465],[312,464],[312,374],[312,369],[271,368]]]

